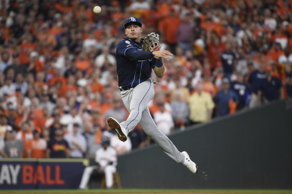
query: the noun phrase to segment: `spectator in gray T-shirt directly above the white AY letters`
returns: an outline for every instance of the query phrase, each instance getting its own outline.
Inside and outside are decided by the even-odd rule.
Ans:
[[[4,151],[8,158],[23,157],[23,141],[21,139],[16,139],[15,130],[6,132]]]

